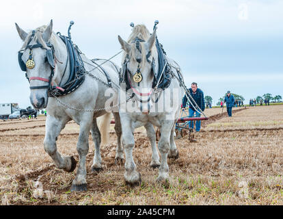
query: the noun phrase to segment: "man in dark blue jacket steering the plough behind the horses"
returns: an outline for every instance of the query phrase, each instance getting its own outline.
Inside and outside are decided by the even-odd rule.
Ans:
[[[191,88],[189,88],[189,93],[191,94],[191,97],[196,101],[196,103],[198,104],[198,106],[200,107],[200,109],[202,111],[204,111],[205,109],[205,105],[204,105],[204,92],[202,92],[202,90],[200,90],[200,88],[198,88],[198,83],[193,82],[191,83]],[[188,95],[189,96],[189,95]],[[182,108],[183,110],[185,110],[185,107],[187,105],[187,96],[185,94],[184,98],[183,98],[183,104],[182,104]],[[189,117],[193,117],[193,114],[196,113],[196,117],[200,117],[200,113],[196,112],[195,108],[196,105],[193,103],[193,100],[190,100],[191,103],[189,103]],[[192,105],[193,103],[193,105]],[[198,110],[198,108],[196,108]],[[191,127],[193,129],[193,121],[189,121],[189,127]],[[196,121],[196,131],[200,131],[200,120]]]

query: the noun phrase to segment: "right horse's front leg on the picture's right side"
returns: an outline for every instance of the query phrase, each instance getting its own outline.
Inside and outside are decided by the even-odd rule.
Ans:
[[[160,140],[158,142],[159,152],[161,153],[161,166],[159,167],[159,176],[157,181],[163,182],[169,179],[169,166],[167,164],[167,155],[170,150],[170,136],[174,122],[165,121],[161,123]]]

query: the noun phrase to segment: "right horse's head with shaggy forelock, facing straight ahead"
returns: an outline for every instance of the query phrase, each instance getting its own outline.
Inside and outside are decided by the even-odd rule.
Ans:
[[[146,102],[150,100],[154,71],[158,68],[158,65],[155,66],[154,64],[154,60],[157,60],[157,49],[154,44],[155,38],[156,29],[150,34],[145,25],[133,27],[127,42],[118,36],[118,40],[124,50],[124,58],[122,60],[122,65],[126,68],[124,77],[126,77],[126,81],[136,96],[140,99],[148,99]]]

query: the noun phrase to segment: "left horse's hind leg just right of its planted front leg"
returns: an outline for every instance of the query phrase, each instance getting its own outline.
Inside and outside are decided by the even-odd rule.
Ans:
[[[98,129],[96,118],[94,118],[92,122],[92,140],[94,141],[95,151],[94,151],[94,162],[92,164],[92,172],[99,172],[102,170],[101,165],[101,155],[100,155],[100,142],[101,142],[101,136],[100,131]]]

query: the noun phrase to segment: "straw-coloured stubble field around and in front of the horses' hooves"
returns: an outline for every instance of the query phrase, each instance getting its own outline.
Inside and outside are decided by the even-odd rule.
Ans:
[[[220,113],[219,108],[206,115]],[[226,109],[224,109],[226,110]],[[143,128],[135,131],[134,159],[142,185],[124,185],[124,166],[113,164],[116,136],[101,149],[104,170],[90,172],[87,192],[70,192],[75,173],[53,165],[44,152],[44,120],[0,123],[0,198],[2,205],[282,205],[283,105],[251,107],[207,125],[191,143],[176,140],[180,157],[170,159],[170,181],[155,182],[151,149]],[[9,127],[11,125],[11,127]],[[38,127],[34,127],[38,125]],[[4,127],[5,126],[5,127]],[[6,130],[5,129],[15,129]],[[57,140],[64,155],[77,155],[79,127],[66,125]],[[78,158],[78,157],[76,157]]]

